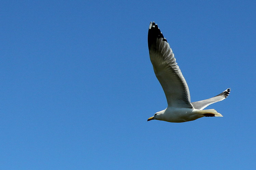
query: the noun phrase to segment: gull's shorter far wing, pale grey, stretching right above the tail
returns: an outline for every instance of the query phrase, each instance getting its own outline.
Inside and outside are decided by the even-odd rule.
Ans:
[[[221,94],[214,96],[210,99],[205,99],[205,100],[201,100],[198,102],[192,102],[192,104],[196,109],[202,110],[205,107],[209,106],[210,104],[213,104],[213,103],[216,103],[216,102],[226,99],[228,97],[229,93],[230,93],[230,88],[228,88],[227,90],[223,91]]]

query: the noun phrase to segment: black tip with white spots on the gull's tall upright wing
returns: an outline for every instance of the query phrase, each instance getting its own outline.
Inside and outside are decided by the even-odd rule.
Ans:
[[[150,22],[150,26],[148,29],[148,36],[147,36],[148,48],[150,48],[150,46],[156,42],[156,38],[163,38],[163,41],[167,42],[167,39],[163,37],[163,34],[161,33],[157,24],[153,21],[153,22]]]

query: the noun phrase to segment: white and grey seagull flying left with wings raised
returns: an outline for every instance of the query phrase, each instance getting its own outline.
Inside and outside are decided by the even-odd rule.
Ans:
[[[222,117],[215,109],[203,109],[227,98],[230,88],[210,99],[191,103],[186,80],[176,63],[169,43],[155,22],[150,22],[148,29],[148,50],[156,78],[165,92],[168,107],[155,113],[147,121],[155,119],[180,123],[201,117]]]

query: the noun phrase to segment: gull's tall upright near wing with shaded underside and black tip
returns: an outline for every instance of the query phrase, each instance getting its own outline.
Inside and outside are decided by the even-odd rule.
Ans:
[[[154,72],[160,82],[168,106],[193,108],[186,80],[176,63],[172,49],[155,22],[148,29],[148,50]]]

